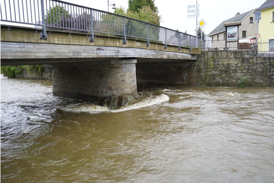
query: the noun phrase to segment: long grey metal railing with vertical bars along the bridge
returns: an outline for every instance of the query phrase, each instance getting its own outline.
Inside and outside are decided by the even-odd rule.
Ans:
[[[41,26],[41,38],[48,29],[137,38],[178,46],[197,47],[195,36],[126,16],[59,0],[1,0],[1,21]]]

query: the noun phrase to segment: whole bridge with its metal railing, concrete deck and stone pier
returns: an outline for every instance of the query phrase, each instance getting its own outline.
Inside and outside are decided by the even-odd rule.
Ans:
[[[1,66],[50,64],[53,95],[114,109],[134,101],[138,64],[201,53],[194,36],[58,0],[1,1],[1,21]]]

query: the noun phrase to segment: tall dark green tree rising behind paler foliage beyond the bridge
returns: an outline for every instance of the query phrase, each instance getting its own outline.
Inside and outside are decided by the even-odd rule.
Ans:
[[[154,13],[158,14],[158,8],[154,4],[154,0],[129,0],[128,11],[139,12],[144,6],[149,6]]]

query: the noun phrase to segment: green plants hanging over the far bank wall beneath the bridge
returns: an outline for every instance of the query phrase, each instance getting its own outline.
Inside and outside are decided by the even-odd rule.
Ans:
[[[20,74],[22,70],[28,72],[43,72],[47,68],[46,65],[27,65],[27,66],[1,66],[1,74],[9,78],[14,78],[15,74]]]

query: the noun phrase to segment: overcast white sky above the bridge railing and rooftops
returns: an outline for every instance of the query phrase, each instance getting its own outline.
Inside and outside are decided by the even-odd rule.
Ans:
[[[107,11],[107,0],[63,0],[66,2],[83,5],[98,10]],[[259,8],[265,0],[197,0],[200,5],[200,16],[198,22],[203,19],[205,25],[203,31],[209,34],[223,20],[232,18],[240,12],[240,14],[249,10]],[[115,3],[116,7],[128,8],[128,0],[109,0],[109,3]],[[154,0],[158,7],[158,15],[162,17],[160,26],[180,32],[187,32],[196,35],[196,18],[187,18],[187,5],[196,4],[196,0]],[[112,6],[109,6],[110,12],[113,12]],[[192,13],[190,13],[192,14]]]

